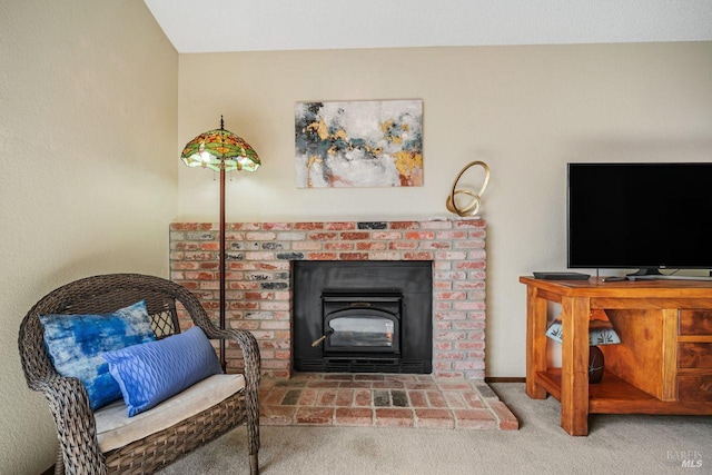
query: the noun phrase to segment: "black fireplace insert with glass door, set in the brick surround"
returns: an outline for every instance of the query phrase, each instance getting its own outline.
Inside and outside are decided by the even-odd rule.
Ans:
[[[295,261],[299,372],[432,373],[429,261]]]

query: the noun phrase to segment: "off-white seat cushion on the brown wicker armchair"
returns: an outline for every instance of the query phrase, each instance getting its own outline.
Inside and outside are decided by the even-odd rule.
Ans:
[[[128,416],[126,404],[119,399],[95,413],[99,449],[106,453],[164,431],[215,406],[244,387],[243,375],[214,375],[134,417]]]

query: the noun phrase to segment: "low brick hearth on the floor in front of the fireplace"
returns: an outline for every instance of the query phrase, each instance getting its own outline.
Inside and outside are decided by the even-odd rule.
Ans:
[[[520,426],[482,380],[342,373],[263,378],[260,424],[502,431]]]

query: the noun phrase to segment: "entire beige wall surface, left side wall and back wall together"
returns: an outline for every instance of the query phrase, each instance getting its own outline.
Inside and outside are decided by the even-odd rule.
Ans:
[[[217,218],[211,174],[176,156],[220,113],[265,164],[228,184],[233,221],[442,216],[487,161],[490,376],[524,374],[518,275],[565,267],[567,161],[712,159],[710,42],[178,56],[139,0],[2,2],[0,37],[3,474],[56,447],[22,316],[77,277],[167,275],[168,222]],[[424,100],[424,187],[296,189],[296,101],[393,98]]]

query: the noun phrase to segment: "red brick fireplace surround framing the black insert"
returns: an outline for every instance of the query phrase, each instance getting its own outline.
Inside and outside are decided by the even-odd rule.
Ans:
[[[251,330],[263,370],[291,373],[293,260],[432,260],[433,372],[484,379],[486,222],[233,222],[227,225],[227,325]],[[171,279],[219,307],[218,225],[170,225]],[[229,347],[228,366],[239,367]]]

